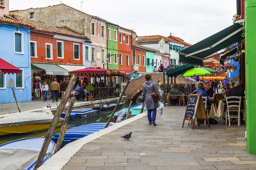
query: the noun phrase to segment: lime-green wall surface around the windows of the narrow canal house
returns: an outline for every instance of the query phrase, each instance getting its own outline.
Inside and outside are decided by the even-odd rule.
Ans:
[[[108,28],[110,28],[111,32],[111,40],[108,40],[108,52],[111,52],[111,54],[118,54],[118,28],[110,25],[108,25]],[[114,41],[114,30],[116,30],[116,41]],[[118,70],[118,64],[118,60],[117,64],[115,64],[115,58],[114,56],[111,56],[111,64],[108,64],[108,69]]]

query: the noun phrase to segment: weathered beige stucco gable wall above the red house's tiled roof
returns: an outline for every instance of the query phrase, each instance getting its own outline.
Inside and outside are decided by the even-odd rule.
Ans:
[[[30,8],[12,12],[21,17],[29,18],[29,13],[34,12],[32,20],[56,28],[67,27],[79,34],[90,37],[90,15],[68,7],[64,4],[44,8]]]

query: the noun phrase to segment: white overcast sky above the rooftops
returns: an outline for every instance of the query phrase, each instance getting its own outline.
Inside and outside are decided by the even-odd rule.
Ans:
[[[10,10],[65,3],[119,26],[138,36],[172,35],[195,44],[231,26],[236,0],[10,0]]]

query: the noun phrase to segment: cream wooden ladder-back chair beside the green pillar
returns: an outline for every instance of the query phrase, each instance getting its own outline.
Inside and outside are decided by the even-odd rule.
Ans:
[[[239,99],[239,100],[238,100]],[[240,125],[240,110],[241,110],[241,96],[226,97],[227,111],[226,111],[226,125],[227,119],[230,126],[230,120],[238,118],[238,126]],[[238,115],[230,115],[230,112],[238,112]]]

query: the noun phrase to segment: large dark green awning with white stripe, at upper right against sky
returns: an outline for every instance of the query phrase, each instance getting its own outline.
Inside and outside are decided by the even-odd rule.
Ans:
[[[235,23],[222,31],[180,51],[180,62],[203,65],[205,57],[244,39],[243,26]],[[190,57],[190,58],[188,58]]]

